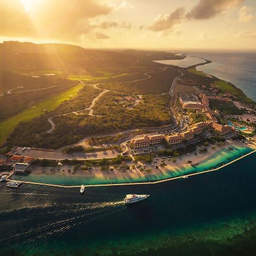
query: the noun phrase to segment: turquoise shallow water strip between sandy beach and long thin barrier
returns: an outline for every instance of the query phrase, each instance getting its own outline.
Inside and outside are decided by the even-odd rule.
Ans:
[[[157,175],[146,174],[146,176],[142,175],[142,176],[134,177],[126,173],[123,177],[112,178],[112,177],[108,177],[108,174],[104,174],[104,172],[102,172],[101,178],[92,177],[89,179],[88,177],[86,177],[86,175],[85,176],[82,176],[82,175],[67,176],[67,175],[61,175],[61,174],[31,173],[27,176],[14,175],[13,179],[24,180],[24,181],[35,181],[39,183],[58,184],[58,185],[82,185],[82,184],[90,185],[90,184],[156,181],[156,180],[163,180],[171,177],[191,174],[194,172],[211,170],[225,163],[231,162],[233,159],[236,159],[242,155],[245,155],[250,151],[253,151],[253,150],[249,147],[227,146],[204,160],[199,155],[199,161],[203,160],[204,162],[198,164],[197,166],[185,166],[183,168],[176,168],[175,170],[162,172]],[[177,162],[179,162],[179,158],[177,158]],[[196,163],[192,163],[192,164],[196,164]]]

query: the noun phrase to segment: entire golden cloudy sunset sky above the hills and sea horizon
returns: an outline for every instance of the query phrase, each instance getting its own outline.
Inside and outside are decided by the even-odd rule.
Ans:
[[[255,0],[0,0],[0,42],[256,50]]]

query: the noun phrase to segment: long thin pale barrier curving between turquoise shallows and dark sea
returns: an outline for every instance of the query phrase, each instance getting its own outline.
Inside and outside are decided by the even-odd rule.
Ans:
[[[251,152],[247,153],[246,155],[240,156],[240,158],[234,159],[234,160],[232,160],[229,163],[223,164],[220,167],[213,168],[213,169],[207,170],[207,171],[195,172],[193,174],[186,174],[185,176],[190,177],[190,176],[196,176],[196,175],[201,175],[201,174],[207,174],[208,172],[218,171],[221,168],[229,166],[230,164],[233,164],[233,163],[237,162],[238,160],[241,160],[242,158],[245,158],[246,156],[254,154],[255,152],[256,152],[256,150],[251,151]],[[11,175],[13,175],[13,174],[14,174],[14,172],[12,172],[11,174],[8,173],[9,177],[11,177]],[[110,184],[90,184],[90,185],[84,185],[84,187],[85,188],[89,188],[89,187],[92,188],[92,187],[126,186],[126,185],[153,185],[153,184],[159,184],[159,183],[163,183],[163,182],[167,182],[167,181],[183,179],[183,177],[184,176],[182,175],[182,176],[171,177],[171,178],[167,178],[167,179],[163,179],[163,180],[156,180],[156,181],[142,181],[142,182],[128,182],[128,183],[110,183]],[[57,187],[57,188],[81,188],[81,185],[57,185],[57,184],[49,184],[49,183],[39,183],[39,182],[34,182],[34,181],[22,181],[22,180],[20,181],[20,180],[13,180],[13,179],[6,179],[5,181],[19,181],[20,183],[24,183],[24,184],[44,185],[44,186],[48,186],[48,187]]]

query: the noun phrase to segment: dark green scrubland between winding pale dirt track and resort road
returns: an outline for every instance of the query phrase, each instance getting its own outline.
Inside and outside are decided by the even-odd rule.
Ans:
[[[170,110],[166,108],[170,96],[143,96],[142,102],[133,109],[116,104],[115,101],[123,94],[108,92],[96,101],[93,114],[67,114],[54,117],[55,130],[51,134],[46,131],[51,127],[47,117],[55,112],[41,115],[30,122],[22,122],[8,139],[10,144],[22,146],[59,148],[74,144],[80,139],[93,134],[108,133],[138,127],[152,127],[170,123]],[[127,96],[127,95],[126,95]],[[80,96],[79,96],[80,97]],[[67,102],[67,104],[69,104]]]

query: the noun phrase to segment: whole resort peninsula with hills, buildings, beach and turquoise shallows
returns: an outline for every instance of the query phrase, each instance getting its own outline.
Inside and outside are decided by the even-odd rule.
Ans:
[[[9,60],[10,48],[19,61],[2,71],[1,100],[9,108],[1,105],[0,119],[1,170],[9,179],[154,182],[218,169],[254,152],[256,105],[236,86],[197,71],[210,60],[181,68],[155,60],[186,55],[126,50],[101,52],[108,58],[100,61],[97,50],[5,42],[0,51]],[[31,68],[34,58],[40,65]],[[6,88],[14,68],[17,79]]]

